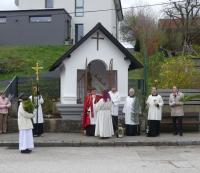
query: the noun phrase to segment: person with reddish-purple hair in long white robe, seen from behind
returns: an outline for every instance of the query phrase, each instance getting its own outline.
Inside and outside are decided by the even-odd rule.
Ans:
[[[114,135],[111,108],[112,102],[107,91],[103,92],[103,98],[96,104],[97,121],[95,127],[95,136],[109,138]]]

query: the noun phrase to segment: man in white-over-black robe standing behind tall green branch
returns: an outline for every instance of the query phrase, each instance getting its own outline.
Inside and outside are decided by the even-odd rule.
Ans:
[[[141,114],[141,107],[133,88],[129,90],[129,96],[125,100],[123,113],[125,114],[126,135],[140,135],[139,115]]]

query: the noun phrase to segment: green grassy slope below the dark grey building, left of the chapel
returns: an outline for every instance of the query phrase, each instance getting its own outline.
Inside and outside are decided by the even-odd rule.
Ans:
[[[13,76],[29,76],[36,62],[48,71],[51,65],[63,55],[70,46],[0,46],[0,80]]]

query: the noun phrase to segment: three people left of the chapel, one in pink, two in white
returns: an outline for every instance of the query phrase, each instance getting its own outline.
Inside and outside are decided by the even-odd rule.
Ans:
[[[33,87],[33,94],[30,97],[19,96],[18,108],[18,129],[19,129],[19,150],[21,153],[30,153],[34,148],[33,137],[43,134],[43,112],[44,100]],[[0,91],[0,134],[7,133],[8,110],[11,107],[10,100]]]

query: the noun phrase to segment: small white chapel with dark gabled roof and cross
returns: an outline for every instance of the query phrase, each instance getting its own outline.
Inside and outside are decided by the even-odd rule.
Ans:
[[[83,103],[88,89],[92,87],[101,94],[102,90],[115,86],[123,101],[128,94],[128,70],[142,67],[140,62],[98,23],[61,56],[50,71],[57,69],[60,72],[61,103],[77,104]]]

